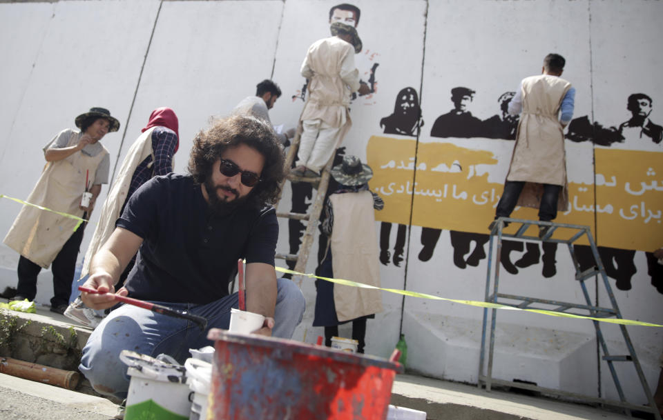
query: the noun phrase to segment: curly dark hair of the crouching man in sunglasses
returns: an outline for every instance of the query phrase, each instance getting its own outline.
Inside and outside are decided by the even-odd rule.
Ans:
[[[189,173],[198,183],[211,176],[212,165],[227,148],[245,144],[265,158],[261,181],[253,187],[247,201],[250,206],[262,207],[276,203],[285,177],[283,151],[269,123],[248,115],[231,115],[214,119],[209,128],[201,130],[193,139],[189,157]]]

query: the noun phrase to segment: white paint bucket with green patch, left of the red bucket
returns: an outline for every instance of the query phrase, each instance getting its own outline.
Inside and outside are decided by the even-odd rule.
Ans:
[[[186,368],[166,354],[157,358],[122,350],[119,359],[131,376],[125,420],[186,420],[191,414]]]

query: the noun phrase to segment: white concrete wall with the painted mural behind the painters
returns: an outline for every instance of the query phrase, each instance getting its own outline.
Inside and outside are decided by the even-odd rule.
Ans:
[[[271,121],[298,121],[308,46],[329,34],[336,1],[54,1],[0,4],[0,194],[25,199],[44,168],[41,149],[74,118],[102,106],[122,123],[102,143],[111,172],[154,108],[180,119],[176,172],[212,115],[227,114],[258,81],[279,83]],[[358,0],[350,23],[363,41],[356,55],[374,92],[352,101],[343,146],[374,169],[369,185],[385,200],[376,212],[385,288],[483,301],[488,223],[508,172],[517,121],[503,106],[523,77],[541,72],[548,52],[566,57],[576,88],[566,130],[570,207],[557,221],[590,226],[609,283],[627,319],[663,323],[663,36],[660,1]],[[464,92],[465,101],[452,100]],[[628,98],[632,94],[642,93]],[[104,199],[107,186],[100,199]],[[307,206],[307,190],[288,186],[281,211]],[[20,207],[0,201],[0,232]],[[98,213],[93,213],[95,223]],[[517,208],[513,217],[537,219]],[[92,235],[88,226],[85,249]],[[296,250],[297,226],[280,225],[278,252]],[[290,241],[294,243],[290,243]],[[317,253],[317,244],[311,255]],[[591,266],[587,243],[577,247]],[[0,247],[0,288],[15,286],[18,254]],[[500,292],[584,301],[565,246],[506,243]],[[278,265],[283,265],[278,262]],[[307,272],[316,268],[310,260]],[[358,279],[361,280],[361,279]],[[606,288],[590,297],[609,306]],[[316,289],[305,279],[307,312],[296,339],[314,342]],[[48,302],[50,272],[37,300]],[[368,321],[367,352],[386,357],[402,331],[408,367],[453,381],[477,382],[483,311],[461,303],[383,293],[384,311]],[[590,321],[515,311],[497,315],[494,377],[617,399],[598,362]],[[340,334],[349,337],[349,324]],[[624,354],[619,327],[603,327],[613,354]],[[659,328],[629,326],[648,383],[662,350]],[[599,369],[597,369],[599,366]],[[631,364],[617,372],[633,403],[644,392]]]

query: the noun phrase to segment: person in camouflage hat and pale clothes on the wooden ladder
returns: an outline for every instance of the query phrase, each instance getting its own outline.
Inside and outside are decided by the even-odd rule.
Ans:
[[[350,94],[367,94],[370,88],[359,82],[354,54],[361,52],[357,30],[332,23],[332,37],[319,39],[309,47],[301,73],[309,79],[309,97],[302,110],[302,135],[295,168],[290,173],[319,177],[327,161],[352,126],[348,106]]]

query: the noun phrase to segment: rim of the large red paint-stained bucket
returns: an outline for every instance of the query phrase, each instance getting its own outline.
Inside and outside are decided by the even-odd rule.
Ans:
[[[258,334],[242,334],[240,332],[229,332],[220,328],[212,328],[207,334],[207,339],[212,341],[228,341],[229,343],[248,346],[260,346],[264,348],[276,348],[285,345],[293,353],[327,358],[341,363],[350,363],[364,367],[375,366],[376,368],[391,369],[396,371],[396,373],[403,373],[405,371],[401,363],[389,361],[381,357],[350,353],[335,348],[320,347],[315,346],[314,344],[300,343],[300,341],[278,339]]]

